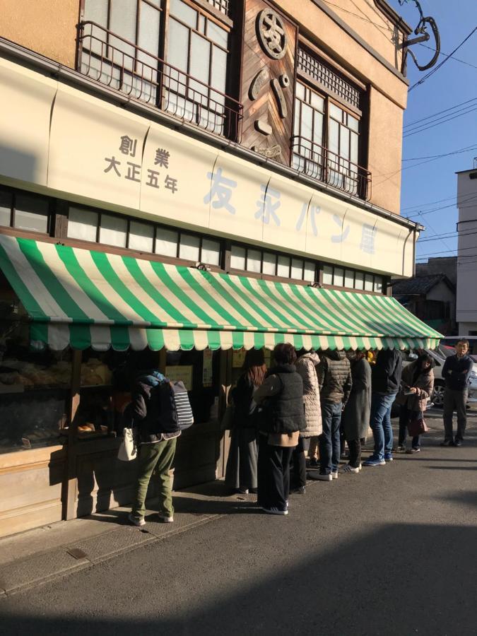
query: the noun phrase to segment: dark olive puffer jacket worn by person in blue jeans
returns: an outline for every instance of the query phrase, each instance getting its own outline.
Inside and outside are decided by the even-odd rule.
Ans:
[[[325,351],[317,366],[319,397],[322,402],[343,406],[348,401],[353,386],[351,365],[344,351]]]

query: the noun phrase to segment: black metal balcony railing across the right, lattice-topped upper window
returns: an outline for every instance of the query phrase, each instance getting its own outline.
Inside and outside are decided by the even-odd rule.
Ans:
[[[292,165],[317,181],[360,199],[371,198],[371,172],[305,137],[292,137]]]

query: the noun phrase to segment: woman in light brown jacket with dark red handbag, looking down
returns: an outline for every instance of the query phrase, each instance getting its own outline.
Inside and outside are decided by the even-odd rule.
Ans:
[[[423,418],[428,399],[434,389],[434,360],[428,353],[423,353],[413,363],[404,367],[401,377],[401,390],[396,397],[399,411],[398,452],[418,453],[420,436],[413,437],[411,449],[406,449],[408,424]]]

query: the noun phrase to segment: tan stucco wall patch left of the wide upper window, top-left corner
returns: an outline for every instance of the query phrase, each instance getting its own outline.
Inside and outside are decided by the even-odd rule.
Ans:
[[[0,36],[74,67],[80,0],[0,0]]]

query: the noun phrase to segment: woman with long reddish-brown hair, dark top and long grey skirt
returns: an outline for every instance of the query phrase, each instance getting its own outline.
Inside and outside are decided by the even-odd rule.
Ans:
[[[250,349],[245,354],[242,375],[230,391],[233,420],[225,483],[244,495],[257,492],[257,404],[253,396],[265,372],[263,349]]]

